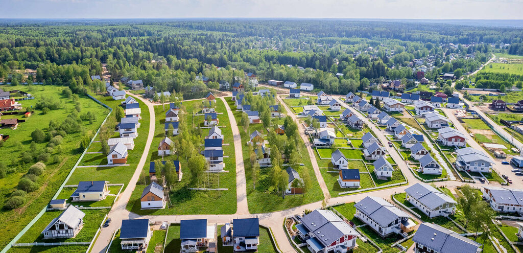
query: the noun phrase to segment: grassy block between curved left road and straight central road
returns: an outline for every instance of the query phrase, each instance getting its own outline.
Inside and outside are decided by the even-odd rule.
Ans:
[[[230,99],[230,98],[229,98]],[[184,107],[186,113],[184,118],[181,120],[188,120],[192,122],[192,108],[201,103],[201,100],[186,101]],[[168,105],[167,105],[168,107]],[[166,108],[167,108],[166,107]],[[176,182],[173,188],[170,190],[170,206],[160,210],[141,210],[140,197],[143,189],[149,183],[149,163],[150,161],[161,160],[158,157],[158,151],[155,148],[158,143],[165,137],[164,131],[164,119],[165,113],[161,105],[154,107],[156,115],[156,128],[152,147],[147,159],[147,164],[144,166],[141,179],[139,180],[136,188],[131,195],[131,201],[127,204],[127,209],[141,215],[154,214],[154,215],[169,215],[169,214],[233,214],[236,212],[236,160],[234,153],[234,140],[232,135],[231,126],[229,123],[228,114],[225,111],[225,105],[221,100],[217,100],[216,111],[218,113],[219,125],[226,126],[220,128],[224,137],[224,143],[229,146],[223,146],[225,170],[227,173],[209,173],[206,174],[206,188],[227,188],[227,191],[197,191],[189,190],[188,188],[196,187],[196,180],[192,178],[190,171],[188,170],[188,161],[184,157],[178,157],[178,155],[172,155],[164,157],[164,160],[179,160],[183,177],[180,182]],[[199,124],[203,122],[203,116],[195,116],[194,123]],[[189,124],[190,126],[190,124]],[[207,136],[209,133],[208,128],[201,129],[201,139]],[[180,136],[172,138],[173,141],[179,139]],[[207,182],[208,180],[208,182]],[[169,204],[169,202],[167,202]],[[228,204],[224,204],[228,203]]]

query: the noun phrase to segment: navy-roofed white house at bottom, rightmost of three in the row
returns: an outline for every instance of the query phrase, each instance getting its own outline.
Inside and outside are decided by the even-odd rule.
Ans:
[[[258,218],[233,219],[232,225],[234,251],[257,251],[260,236]]]

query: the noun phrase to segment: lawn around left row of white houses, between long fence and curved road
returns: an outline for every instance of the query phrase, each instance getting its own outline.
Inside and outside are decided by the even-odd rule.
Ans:
[[[121,101],[115,101],[110,96],[96,96],[96,98],[112,108],[116,108],[121,104]],[[149,134],[149,108],[138,100],[138,98],[137,101],[140,103],[142,119],[139,120],[141,125],[140,128],[138,128],[138,137],[134,139],[134,149],[128,151],[129,155],[127,157],[127,164],[130,164],[130,166],[78,168],[71,175],[67,184],[78,184],[79,181],[106,180],[110,183],[123,183],[124,189],[127,187],[127,184],[142,157],[147,135]],[[119,121],[119,119],[117,121]],[[115,135],[117,135],[117,133],[115,133]],[[152,144],[151,149],[154,149],[154,143]],[[107,158],[102,154],[92,154],[85,156],[81,163],[107,164]],[[148,166],[144,167],[149,168]]]

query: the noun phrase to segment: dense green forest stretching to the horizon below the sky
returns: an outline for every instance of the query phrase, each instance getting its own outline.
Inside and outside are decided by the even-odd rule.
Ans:
[[[260,82],[309,82],[343,94],[412,79],[413,59],[431,59],[435,68],[425,73],[430,80],[441,72],[470,72],[498,50],[491,43],[517,45],[520,35],[516,28],[384,21],[7,20],[0,23],[0,79],[103,92],[103,84],[89,76],[107,63],[112,81],[128,76],[184,95],[201,94],[221,80],[246,82],[244,71]],[[17,74],[26,68],[36,69],[35,78]],[[197,81],[201,74],[210,84]]]

